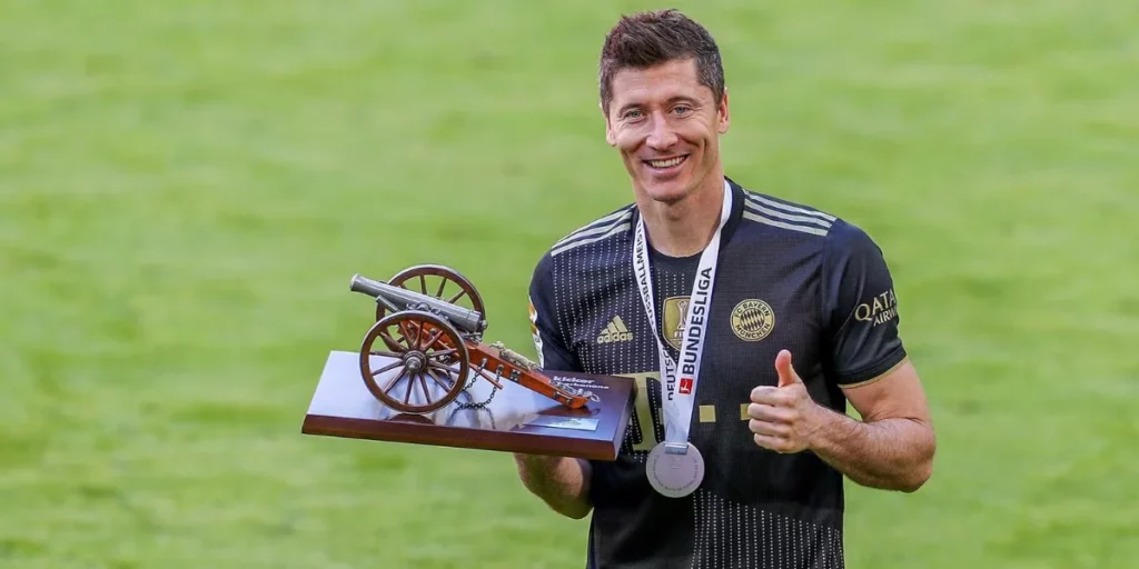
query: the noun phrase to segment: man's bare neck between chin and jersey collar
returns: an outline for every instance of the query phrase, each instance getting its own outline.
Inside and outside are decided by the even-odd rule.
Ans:
[[[723,176],[712,178],[685,199],[671,204],[637,197],[645,218],[645,232],[657,253],[688,257],[704,250],[720,226],[723,208]]]

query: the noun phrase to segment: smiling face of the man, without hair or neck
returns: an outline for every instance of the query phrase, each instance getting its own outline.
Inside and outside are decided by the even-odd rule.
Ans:
[[[613,76],[606,141],[621,151],[638,191],[657,201],[683,199],[719,167],[728,132],[728,94],[716,101],[694,59]]]

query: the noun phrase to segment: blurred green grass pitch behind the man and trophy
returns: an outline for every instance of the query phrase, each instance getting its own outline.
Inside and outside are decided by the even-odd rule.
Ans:
[[[940,448],[853,568],[1139,559],[1139,5],[683,1],[730,175],[866,228]],[[306,437],[355,272],[443,263],[532,353],[630,200],[596,101],[642,1],[0,0],[0,567],[575,568],[506,454]]]

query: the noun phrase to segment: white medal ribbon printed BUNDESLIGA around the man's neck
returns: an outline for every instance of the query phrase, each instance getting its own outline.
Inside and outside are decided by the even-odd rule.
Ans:
[[[683,339],[680,345],[680,361],[675,362],[665,348],[656,329],[656,310],[653,305],[653,278],[648,270],[648,247],[645,238],[645,218],[637,220],[637,232],[633,238],[633,271],[640,289],[641,303],[648,314],[653,338],[656,339],[657,354],[662,371],[661,395],[664,399],[664,442],[670,448],[685,453],[688,447],[688,427],[696,403],[696,385],[699,381],[700,356],[704,353],[708,314],[712,312],[712,287],[715,283],[715,269],[720,258],[720,233],[731,214],[731,187],[727,180],[723,183],[723,207],[720,211],[720,224],[716,226],[712,241],[700,254],[700,262],[693,282],[693,291],[688,303],[688,315],[685,319]]]

